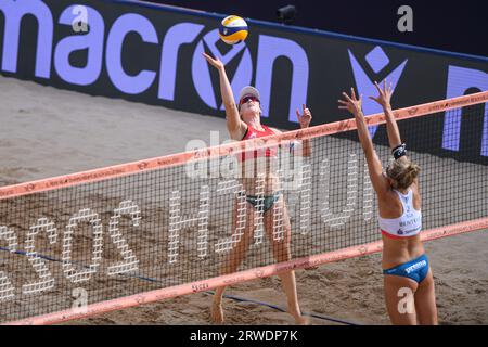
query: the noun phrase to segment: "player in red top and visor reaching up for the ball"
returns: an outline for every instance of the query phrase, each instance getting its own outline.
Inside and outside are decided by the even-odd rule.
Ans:
[[[269,128],[260,123],[261,108],[259,103],[259,92],[247,86],[242,89],[239,95],[239,105],[235,104],[234,95],[226,74],[226,68],[222,62],[218,59],[214,59],[204,53],[208,63],[217,68],[220,76],[220,91],[222,95],[223,105],[226,107],[227,129],[231,139],[236,141],[259,138],[280,133],[279,130]],[[303,114],[297,110],[297,118],[301,128],[309,126],[311,120],[310,111],[303,105]],[[309,140],[304,140],[300,145],[300,151],[304,156],[310,155]],[[257,157],[255,157],[257,156]],[[251,165],[248,162],[253,162]],[[290,217],[284,203],[283,194],[280,187],[280,181],[275,172],[270,170],[270,162],[277,159],[277,149],[266,149],[264,153],[259,155],[244,156],[241,159],[241,167],[243,170],[242,183],[246,192],[246,223],[244,234],[241,240],[234,245],[229,253],[228,261],[224,268],[221,270],[223,273],[235,272],[245,257],[245,254],[251,245],[254,234],[254,221],[256,214],[262,214],[262,221],[265,232],[272,245],[273,257],[277,261],[291,260],[291,224]],[[257,160],[264,160],[264,166],[260,166]],[[264,170],[264,202],[258,206],[257,192],[256,192],[256,178],[258,167],[265,167]],[[248,170],[253,172],[248,172]],[[273,237],[273,218],[275,213],[275,206],[280,207],[283,220],[283,237],[281,240],[274,240]],[[258,210],[260,209],[260,210]],[[237,205],[234,204],[233,209],[233,228],[236,228]],[[301,316],[298,305],[296,280],[294,271],[288,271],[279,274],[283,290],[287,297],[287,310],[294,317],[296,323],[307,323],[307,319]],[[218,287],[214,295],[211,306],[211,319],[215,322],[223,322],[223,310],[221,300],[223,296],[223,287]]]

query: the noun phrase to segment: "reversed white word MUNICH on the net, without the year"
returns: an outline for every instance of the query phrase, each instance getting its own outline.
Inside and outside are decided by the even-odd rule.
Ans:
[[[202,142],[203,144],[203,142]],[[284,146],[283,143],[280,144],[281,147]],[[254,149],[254,147],[253,147]],[[253,153],[253,151],[248,151]],[[286,151],[282,151],[286,152]],[[198,153],[198,152],[196,152]],[[205,157],[206,151],[202,149],[202,158],[196,157],[196,162],[202,162],[202,167],[204,169],[196,169],[195,171],[189,170],[187,167],[187,174],[192,172],[190,175],[190,179],[201,179],[201,178],[207,178],[208,177],[208,158]],[[320,208],[320,216],[322,218],[322,222],[334,229],[344,227],[348,220],[354,216],[354,213],[356,210],[358,198],[360,198],[362,194],[362,219],[364,221],[371,221],[373,219],[373,203],[374,203],[374,192],[372,188],[371,180],[369,179],[368,175],[368,166],[364,164],[363,166],[363,179],[362,179],[362,189],[360,190],[358,188],[358,157],[356,153],[350,153],[347,155],[347,187],[346,187],[346,206],[343,208],[343,210],[339,214],[334,214],[332,211],[332,208],[330,207],[330,198],[331,198],[331,192],[330,189],[332,187],[331,182],[331,167],[329,159],[322,160],[322,164],[320,165],[320,182],[319,182],[319,208]],[[285,233],[285,224],[288,223],[287,220],[285,220],[284,217],[284,203],[285,203],[285,195],[284,192],[286,190],[293,191],[290,194],[291,205],[286,208],[291,216],[287,218],[296,220],[297,223],[297,230],[300,234],[307,234],[311,230],[311,220],[312,220],[312,165],[310,164],[304,164],[303,158],[300,157],[300,160],[294,162],[293,168],[288,165],[290,163],[286,160],[283,160],[287,165],[283,165],[280,169],[272,169],[272,171],[277,175],[277,177],[280,178],[281,181],[283,181],[282,185],[286,187],[286,189],[281,190],[283,192],[283,196],[277,197],[277,202],[272,205],[273,210],[273,224],[272,224],[272,234],[274,241],[281,241],[284,239]],[[194,163],[193,163],[194,164]],[[262,163],[258,163],[257,166],[257,172],[261,172],[257,175],[257,179],[255,180],[255,195],[252,196],[254,200],[256,206],[254,206],[254,220],[253,226],[247,226],[247,228],[253,228],[254,231],[254,245],[260,245],[264,243],[264,236],[265,236],[265,223],[264,223],[264,209],[265,209],[265,176],[262,174],[264,168],[259,167]],[[211,165],[210,165],[211,166]],[[215,167],[219,166],[219,163],[214,164]],[[285,171],[293,172],[294,176],[294,183],[286,185],[285,178],[290,177],[290,175],[285,175]],[[198,175],[195,175],[195,172],[198,172]],[[298,172],[298,175],[296,174]],[[202,176],[201,176],[202,175]],[[214,175],[210,175],[210,177],[215,177]],[[223,180],[218,183],[217,188],[217,196],[222,194],[229,194],[232,193],[236,197],[236,205],[232,208],[236,208],[233,210],[233,219],[232,228],[233,234],[231,237],[224,237],[220,239],[215,244],[215,252],[216,253],[224,253],[230,249],[232,249],[236,243],[241,241],[241,237],[245,231],[246,228],[246,195],[245,191],[243,190],[243,185],[239,183],[240,180],[232,179],[232,180]],[[181,220],[181,207],[180,207],[180,196],[178,191],[172,192],[174,195],[171,195],[170,198],[170,219],[169,219],[169,244],[168,244],[168,257],[169,262],[174,264],[178,260],[178,244],[180,242],[180,234],[179,230],[182,227],[182,223],[187,223],[185,227],[194,226],[197,221],[197,218],[188,218],[185,220]],[[206,198],[201,197],[201,204],[200,204],[200,211],[198,216],[206,216],[206,211],[208,209],[211,210],[213,203],[208,197],[208,187],[204,185],[201,189],[201,196],[203,194],[206,196]],[[271,196],[271,195],[270,195]],[[298,204],[298,205],[297,205]],[[294,216],[294,210],[298,208],[298,215]],[[214,206],[215,207],[215,206]],[[207,217],[205,217],[207,218]],[[200,227],[200,229],[202,229]],[[292,230],[293,232],[293,230]],[[201,258],[204,258],[204,254],[207,255],[206,252],[204,252],[204,247],[201,245],[201,239],[204,237],[207,240],[206,234],[201,230],[198,231],[198,255]],[[205,236],[203,236],[205,235]]]

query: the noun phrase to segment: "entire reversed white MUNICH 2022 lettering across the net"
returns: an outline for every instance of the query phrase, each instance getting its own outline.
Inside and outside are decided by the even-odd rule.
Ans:
[[[215,165],[219,165],[216,163]],[[262,168],[259,168],[262,170]],[[296,170],[297,168],[294,167]],[[334,215],[330,204],[330,190],[332,187],[331,182],[331,170],[330,160],[325,158],[322,160],[319,167],[319,191],[318,191],[318,208],[317,211],[320,213],[322,222],[329,228],[336,228],[344,226],[352,216],[355,211],[355,206],[358,200],[358,192],[363,194],[364,201],[369,202],[372,200],[371,182],[365,178],[362,180],[363,188],[358,189],[358,159],[355,153],[347,155],[347,187],[346,189],[346,206],[342,213]],[[334,170],[336,171],[336,170]],[[342,170],[341,170],[342,171]],[[367,168],[364,167],[364,175]],[[286,207],[291,215],[293,210],[298,210],[298,216],[286,216],[284,214],[285,194],[277,196],[277,202],[273,204],[273,224],[272,224],[272,239],[274,241],[282,241],[285,239],[285,232],[287,231],[287,224],[291,219],[295,220],[296,231],[300,234],[307,234],[310,232],[311,220],[312,220],[312,165],[303,164],[299,162],[299,172],[298,184],[295,187],[296,190],[292,192],[290,197],[294,196],[298,198],[298,208],[295,208],[293,204]],[[334,172],[337,175],[338,172]],[[277,171],[278,177],[283,178],[284,174],[280,170]],[[258,178],[255,180],[255,191],[252,198],[256,202],[254,219],[249,220],[247,218],[247,208],[249,204],[246,202],[246,194],[243,184],[237,179],[227,179],[218,182],[217,195],[219,202],[223,202],[223,195],[231,195],[230,202],[233,202],[233,206],[226,206],[227,209],[232,215],[232,234],[231,236],[218,239],[214,243],[214,252],[217,254],[222,254],[232,249],[239,242],[241,242],[246,229],[249,232],[254,231],[254,245],[264,244],[264,208],[265,208],[265,176],[258,174]],[[339,183],[341,185],[343,183]],[[338,187],[338,189],[344,189],[344,187]],[[283,191],[284,193],[284,191]],[[183,217],[181,208],[181,193],[180,191],[172,191],[169,198],[169,224],[168,224],[168,264],[172,265],[179,260],[179,249],[181,243],[180,231],[184,228],[196,227],[196,249],[200,259],[205,259],[209,256],[209,218],[210,211],[215,208],[215,204],[210,200],[210,189],[209,185],[204,184],[201,187],[198,192],[198,211],[193,213],[190,216]],[[235,197],[235,200],[233,198]],[[227,205],[227,201],[224,202]],[[296,204],[296,203],[295,203]],[[372,213],[372,206],[364,203],[362,216],[364,220],[370,218]],[[218,211],[217,211],[218,213]],[[131,200],[123,201],[117,208],[113,210],[113,215],[110,219],[108,230],[112,243],[116,246],[117,250],[121,255],[123,261],[113,264],[106,267],[106,274],[115,275],[123,273],[134,273],[138,270],[139,260],[136,254],[129,249],[129,244],[127,240],[120,232],[119,220],[121,216],[129,215],[132,227],[139,227],[141,222],[141,209]],[[288,220],[286,220],[288,219]],[[248,226],[247,223],[253,223]],[[75,229],[79,228],[80,223],[88,223],[92,229],[92,258],[91,265],[86,266],[82,262],[73,262],[72,254],[74,253],[73,247],[73,236],[75,234]],[[322,229],[319,227],[319,232]],[[28,283],[23,285],[23,294],[41,294],[48,290],[54,287],[54,279],[44,264],[47,259],[42,255],[38,255],[35,250],[35,237],[40,231],[46,231],[50,241],[50,244],[56,243],[57,234],[56,228],[53,222],[48,218],[39,218],[33,227],[30,227],[26,236],[26,255],[28,260],[34,266],[40,281],[37,283]],[[17,243],[15,232],[8,227],[0,228],[0,240],[7,240],[9,244],[8,250],[16,252]],[[5,249],[2,249],[5,250]],[[64,232],[63,244],[62,244],[62,268],[65,277],[72,282],[82,282],[89,281],[93,273],[98,272],[100,269],[100,264],[102,261],[102,250],[103,250],[103,226],[99,214],[92,211],[90,208],[82,208],[78,213],[74,214],[69,219]],[[8,278],[5,272],[0,272],[0,300],[8,300],[15,295],[15,288],[12,286],[12,282]]]

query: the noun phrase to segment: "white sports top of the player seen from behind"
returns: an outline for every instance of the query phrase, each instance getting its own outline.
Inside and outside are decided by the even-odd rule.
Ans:
[[[422,213],[413,208],[413,192],[410,189],[407,194],[394,190],[403,206],[403,215],[399,218],[377,217],[380,229],[387,236],[410,237],[422,230]]]

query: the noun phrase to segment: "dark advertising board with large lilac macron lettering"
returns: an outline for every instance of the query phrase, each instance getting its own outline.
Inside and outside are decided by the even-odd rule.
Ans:
[[[217,73],[202,57],[206,51],[226,64],[234,94],[246,85],[259,89],[264,123],[283,129],[297,128],[295,110],[304,103],[312,125],[349,118],[337,110],[337,99],[350,87],[365,97],[367,115],[380,112],[367,98],[375,94],[375,80],[393,82],[395,108],[488,90],[485,57],[251,20],[245,43],[227,46],[217,31],[222,17],[129,1],[0,0],[0,70],[223,117]],[[422,149],[422,139],[413,137],[412,146],[486,164],[488,107],[476,110],[467,120],[447,113],[431,121],[437,149]],[[463,139],[465,124],[479,137]]]

